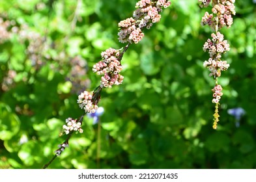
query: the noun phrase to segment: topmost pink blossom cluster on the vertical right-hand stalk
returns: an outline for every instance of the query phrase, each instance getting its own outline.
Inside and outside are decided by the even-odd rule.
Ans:
[[[201,3],[201,6],[208,6],[210,1],[202,1],[199,0]],[[212,29],[216,28],[216,25],[218,25],[218,29],[221,29],[222,27],[231,27],[233,24],[233,18],[232,14],[235,15],[235,0],[222,0],[220,3],[218,1],[212,1],[212,13],[216,14],[216,18],[218,18],[218,23],[216,21],[216,18],[214,18],[213,14],[209,14],[208,12],[205,12],[205,16],[203,16],[201,20],[201,25],[210,25]]]

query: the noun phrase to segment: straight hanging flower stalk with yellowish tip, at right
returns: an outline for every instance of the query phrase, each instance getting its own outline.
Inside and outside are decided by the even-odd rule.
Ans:
[[[214,123],[213,128],[217,129],[217,123],[219,122],[220,115],[218,114],[218,106],[220,105],[220,99],[223,95],[222,87],[218,84],[218,77],[221,76],[221,72],[229,68],[229,64],[226,60],[222,60],[221,57],[227,51],[229,51],[229,44],[227,40],[224,40],[223,34],[220,29],[222,27],[231,27],[233,24],[232,15],[235,15],[235,0],[199,0],[199,5],[206,7],[210,5],[212,1],[212,14],[205,12],[201,20],[201,25],[208,25],[212,28],[212,38],[208,39],[203,45],[203,51],[208,52],[210,58],[205,60],[203,66],[210,71],[209,76],[214,78],[215,86],[212,89],[213,99],[212,103],[215,103],[214,111]]]

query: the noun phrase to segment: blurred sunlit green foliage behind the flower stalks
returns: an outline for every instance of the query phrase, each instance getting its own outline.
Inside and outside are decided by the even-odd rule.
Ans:
[[[50,161],[64,140],[65,119],[83,114],[79,92],[100,83],[91,71],[100,53],[124,46],[117,23],[132,16],[135,3],[0,1],[0,168],[42,168]],[[200,25],[206,9],[172,1],[124,54],[122,85],[103,90],[102,128],[85,117],[84,132],[72,136],[49,168],[256,168],[256,4],[235,5],[233,26],[221,29],[231,66],[219,79],[217,131],[214,81],[203,68],[211,33]],[[246,110],[239,127],[227,113],[235,107]]]

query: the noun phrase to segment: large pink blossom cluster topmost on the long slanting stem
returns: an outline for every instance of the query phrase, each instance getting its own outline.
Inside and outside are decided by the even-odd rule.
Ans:
[[[144,36],[142,30],[145,27],[150,29],[153,23],[160,21],[162,8],[167,8],[169,5],[171,5],[171,2],[166,0],[141,0],[137,2],[135,6],[137,9],[134,11],[133,18],[127,18],[119,22],[119,42],[137,44]]]

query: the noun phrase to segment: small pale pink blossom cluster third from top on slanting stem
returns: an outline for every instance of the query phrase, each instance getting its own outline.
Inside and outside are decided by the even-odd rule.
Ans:
[[[92,101],[93,92],[81,92],[78,96],[78,104],[81,109],[84,109],[85,112],[95,112],[98,109],[98,105]]]

